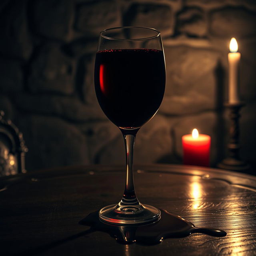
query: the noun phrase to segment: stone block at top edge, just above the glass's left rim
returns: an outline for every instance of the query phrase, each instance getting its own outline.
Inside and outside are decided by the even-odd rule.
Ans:
[[[75,29],[85,36],[99,36],[106,28],[120,27],[116,0],[82,2],[76,6]]]

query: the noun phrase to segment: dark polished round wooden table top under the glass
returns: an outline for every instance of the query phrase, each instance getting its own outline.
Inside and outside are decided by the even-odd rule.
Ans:
[[[191,234],[154,246],[119,244],[78,222],[119,202],[120,166],[76,166],[0,179],[1,255],[256,255],[256,177],[181,165],[135,166],[136,194],[198,227],[225,237]]]

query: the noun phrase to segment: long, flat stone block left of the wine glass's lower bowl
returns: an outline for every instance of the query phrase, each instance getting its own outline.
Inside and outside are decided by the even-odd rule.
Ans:
[[[19,94],[14,100],[25,112],[60,116],[74,122],[107,119],[99,105],[86,105],[74,97]]]

